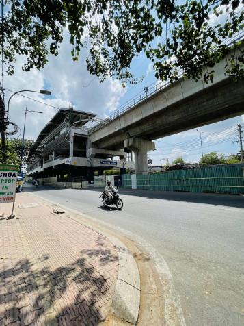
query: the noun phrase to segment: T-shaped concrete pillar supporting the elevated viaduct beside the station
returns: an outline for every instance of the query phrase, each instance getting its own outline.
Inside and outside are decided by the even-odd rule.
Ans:
[[[135,154],[135,173],[148,173],[148,151],[155,149],[155,143],[141,138],[126,138],[124,147],[131,149]]]

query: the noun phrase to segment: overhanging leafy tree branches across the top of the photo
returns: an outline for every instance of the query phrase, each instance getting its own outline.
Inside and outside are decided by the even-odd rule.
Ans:
[[[243,30],[239,0],[5,0],[10,8],[1,24],[5,64],[24,55],[25,71],[43,68],[48,55],[58,55],[68,30],[74,61],[87,47],[83,60],[92,75],[135,82],[129,68],[133,58],[145,53],[154,62],[157,78],[198,80],[203,67],[213,67],[229,51],[228,42]],[[227,18],[226,15],[227,14]],[[210,18],[214,17],[213,22]],[[221,23],[222,18],[222,23]],[[218,23],[217,21],[220,21]],[[240,42],[226,64],[226,73],[243,77],[244,54]],[[204,81],[213,80],[213,68]]]

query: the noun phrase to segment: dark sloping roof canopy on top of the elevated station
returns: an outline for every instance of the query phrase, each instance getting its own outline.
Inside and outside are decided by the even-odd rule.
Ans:
[[[73,110],[72,108],[61,108],[59,111],[51,118],[49,123],[45,125],[45,127],[40,131],[40,134],[38,135],[38,138],[36,139],[36,142],[33,145],[33,149],[31,149],[31,152],[29,153],[28,161],[36,152],[36,149],[44,140],[46,136],[48,136],[55,127],[63,123],[64,121],[67,121],[67,125],[75,126],[75,127],[83,127],[87,122],[92,121],[93,118],[95,118],[96,114],[91,112],[85,112],[85,111],[79,111],[79,110]]]

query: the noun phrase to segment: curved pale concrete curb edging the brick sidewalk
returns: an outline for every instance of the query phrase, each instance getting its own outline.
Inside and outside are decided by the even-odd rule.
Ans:
[[[116,238],[116,236],[112,236],[106,231],[101,230],[94,224],[89,223],[90,221],[92,221],[92,218],[87,214],[83,214],[77,210],[73,210],[72,208],[66,208],[64,205],[56,203],[55,201],[50,201],[49,199],[44,199],[43,197],[40,197],[33,193],[28,195],[38,197],[39,199],[42,199],[42,201],[46,201],[48,203],[51,203],[52,205],[62,208],[63,210],[65,210],[65,212],[75,214],[76,216],[68,217],[72,218],[78,223],[81,223],[83,225],[86,225],[87,227],[90,227],[91,229],[94,229],[99,234],[102,234],[103,236],[109,239],[109,241],[116,248],[119,259],[118,279],[116,281],[116,287],[113,294],[111,313],[116,318],[120,318],[123,321],[136,325],[139,316],[139,307],[141,299],[140,276],[137,268],[137,263],[135,262],[133,255],[128,250],[128,247],[126,247],[124,242],[120,241],[118,238]],[[77,215],[79,216],[79,218],[77,217]],[[87,220],[83,221],[85,218],[87,218]]]

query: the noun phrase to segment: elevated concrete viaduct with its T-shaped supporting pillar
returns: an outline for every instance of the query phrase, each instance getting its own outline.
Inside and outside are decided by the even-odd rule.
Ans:
[[[152,140],[243,114],[244,80],[236,83],[225,75],[226,62],[211,68],[212,84],[180,79],[95,126],[89,131],[92,146],[132,150],[135,172],[147,173],[147,153],[155,148]]]

